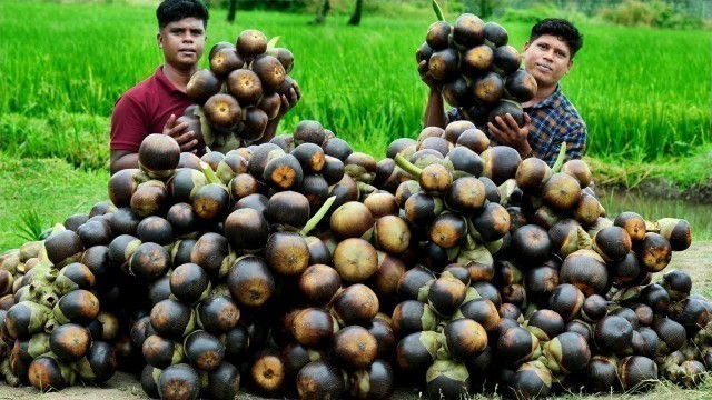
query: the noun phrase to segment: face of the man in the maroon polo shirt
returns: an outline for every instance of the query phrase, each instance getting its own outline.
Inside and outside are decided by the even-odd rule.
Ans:
[[[205,50],[205,24],[189,17],[168,23],[158,32],[158,46],[166,63],[177,69],[194,69]]]

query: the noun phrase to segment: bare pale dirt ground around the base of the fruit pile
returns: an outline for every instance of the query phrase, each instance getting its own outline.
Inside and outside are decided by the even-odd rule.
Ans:
[[[692,276],[693,292],[704,296],[712,296],[712,241],[693,242],[690,249],[673,253],[670,266],[665,272],[671,269],[682,269]],[[664,393],[661,398],[666,398]],[[671,398],[679,398],[681,394],[676,392]],[[690,394],[700,394],[700,392],[691,392]],[[708,393],[709,394],[709,393]],[[682,392],[682,396],[688,397]],[[659,397],[656,394],[656,397]],[[692,396],[698,398],[696,396]],[[101,387],[71,387],[61,392],[41,393],[33,388],[12,388],[4,382],[0,383],[0,400],[26,400],[26,399],[101,399],[101,400],[119,400],[119,399],[147,399],[144,394],[139,381],[131,374],[118,372],[106,384]],[[239,396],[240,399],[263,399],[260,397],[245,393]],[[407,390],[399,390],[394,398],[397,399],[417,399],[417,393],[411,393]],[[688,397],[690,398],[690,397]]]

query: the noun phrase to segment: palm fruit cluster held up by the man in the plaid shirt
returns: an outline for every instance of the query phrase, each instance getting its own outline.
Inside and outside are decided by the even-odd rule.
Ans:
[[[524,124],[523,102],[536,94],[536,80],[521,68],[522,54],[508,44],[508,33],[494,21],[463,13],[454,23],[432,23],[416,51],[418,64],[436,81],[444,100],[483,127],[512,114]]]

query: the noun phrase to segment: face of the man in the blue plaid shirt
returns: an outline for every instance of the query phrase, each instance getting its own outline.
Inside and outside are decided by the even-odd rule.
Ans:
[[[524,44],[524,68],[544,86],[554,86],[571,70],[568,44],[551,34],[542,34]]]

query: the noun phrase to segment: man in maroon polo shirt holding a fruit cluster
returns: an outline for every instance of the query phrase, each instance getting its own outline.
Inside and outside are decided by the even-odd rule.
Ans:
[[[150,133],[169,134],[181,151],[198,153],[195,133],[185,131],[187,122],[176,124],[176,119],[192,104],[186,94],[186,86],[198,70],[205,50],[208,9],[202,0],[165,0],[158,6],[156,17],[164,64],[116,102],[111,113],[111,173],[138,168],[138,149]],[[263,140],[275,136],[281,116],[297,100],[294,89],[289,98],[281,97],[279,113],[265,128]]]

